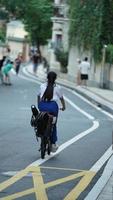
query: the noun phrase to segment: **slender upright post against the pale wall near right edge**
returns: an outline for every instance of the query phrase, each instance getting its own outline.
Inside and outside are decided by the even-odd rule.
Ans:
[[[107,45],[104,45],[103,51],[102,51],[102,63],[101,63],[101,72],[100,72],[100,87],[101,88],[106,88],[106,80],[105,80],[106,49],[107,49]]]

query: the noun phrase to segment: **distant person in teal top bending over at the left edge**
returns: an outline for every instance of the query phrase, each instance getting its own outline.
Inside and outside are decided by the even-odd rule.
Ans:
[[[9,72],[13,68],[13,62],[7,61],[7,63],[2,67],[3,81],[5,85],[12,85],[10,81]]]

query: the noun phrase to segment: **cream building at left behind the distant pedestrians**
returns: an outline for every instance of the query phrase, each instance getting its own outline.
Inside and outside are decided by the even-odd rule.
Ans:
[[[15,59],[19,53],[23,55],[24,61],[29,59],[29,44],[27,42],[28,33],[24,25],[19,20],[13,20],[7,24],[6,43],[11,49],[10,56]]]

